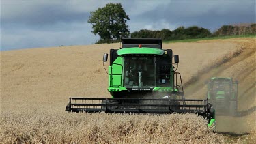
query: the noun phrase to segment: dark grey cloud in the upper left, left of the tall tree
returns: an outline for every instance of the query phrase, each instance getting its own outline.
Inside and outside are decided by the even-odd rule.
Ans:
[[[69,3],[14,1],[3,3],[1,20],[3,23],[21,23],[26,25],[52,25],[57,22],[84,22],[89,12],[76,10]]]

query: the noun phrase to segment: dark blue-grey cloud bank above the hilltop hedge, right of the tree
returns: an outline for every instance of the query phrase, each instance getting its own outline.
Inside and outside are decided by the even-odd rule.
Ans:
[[[171,1],[134,19],[140,23],[160,23],[160,20],[165,20],[176,27],[199,25],[214,31],[221,25],[255,23],[255,1]]]

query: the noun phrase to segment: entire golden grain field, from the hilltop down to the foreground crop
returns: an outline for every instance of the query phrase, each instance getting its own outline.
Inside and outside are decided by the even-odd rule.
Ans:
[[[255,38],[163,44],[180,55],[186,98],[205,98],[212,76],[238,79],[239,111],[256,106]],[[1,143],[254,143],[255,111],[217,117],[214,134],[197,115],[66,113],[69,97],[110,98],[103,53],[119,44],[1,51]],[[227,141],[221,132],[242,134]]]

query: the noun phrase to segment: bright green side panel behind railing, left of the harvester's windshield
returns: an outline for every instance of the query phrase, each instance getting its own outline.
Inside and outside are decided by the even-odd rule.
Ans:
[[[122,57],[117,57],[114,63],[109,66],[109,87],[121,87],[122,86]]]

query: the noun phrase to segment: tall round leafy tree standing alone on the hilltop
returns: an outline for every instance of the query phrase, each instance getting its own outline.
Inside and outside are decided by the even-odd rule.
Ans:
[[[108,3],[103,8],[91,12],[88,23],[91,23],[91,31],[94,35],[99,35],[101,40],[98,42],[111,42],[119,40],[120,37],[128,38],[130,31],[127,20],[130,20],[120,3]]]

